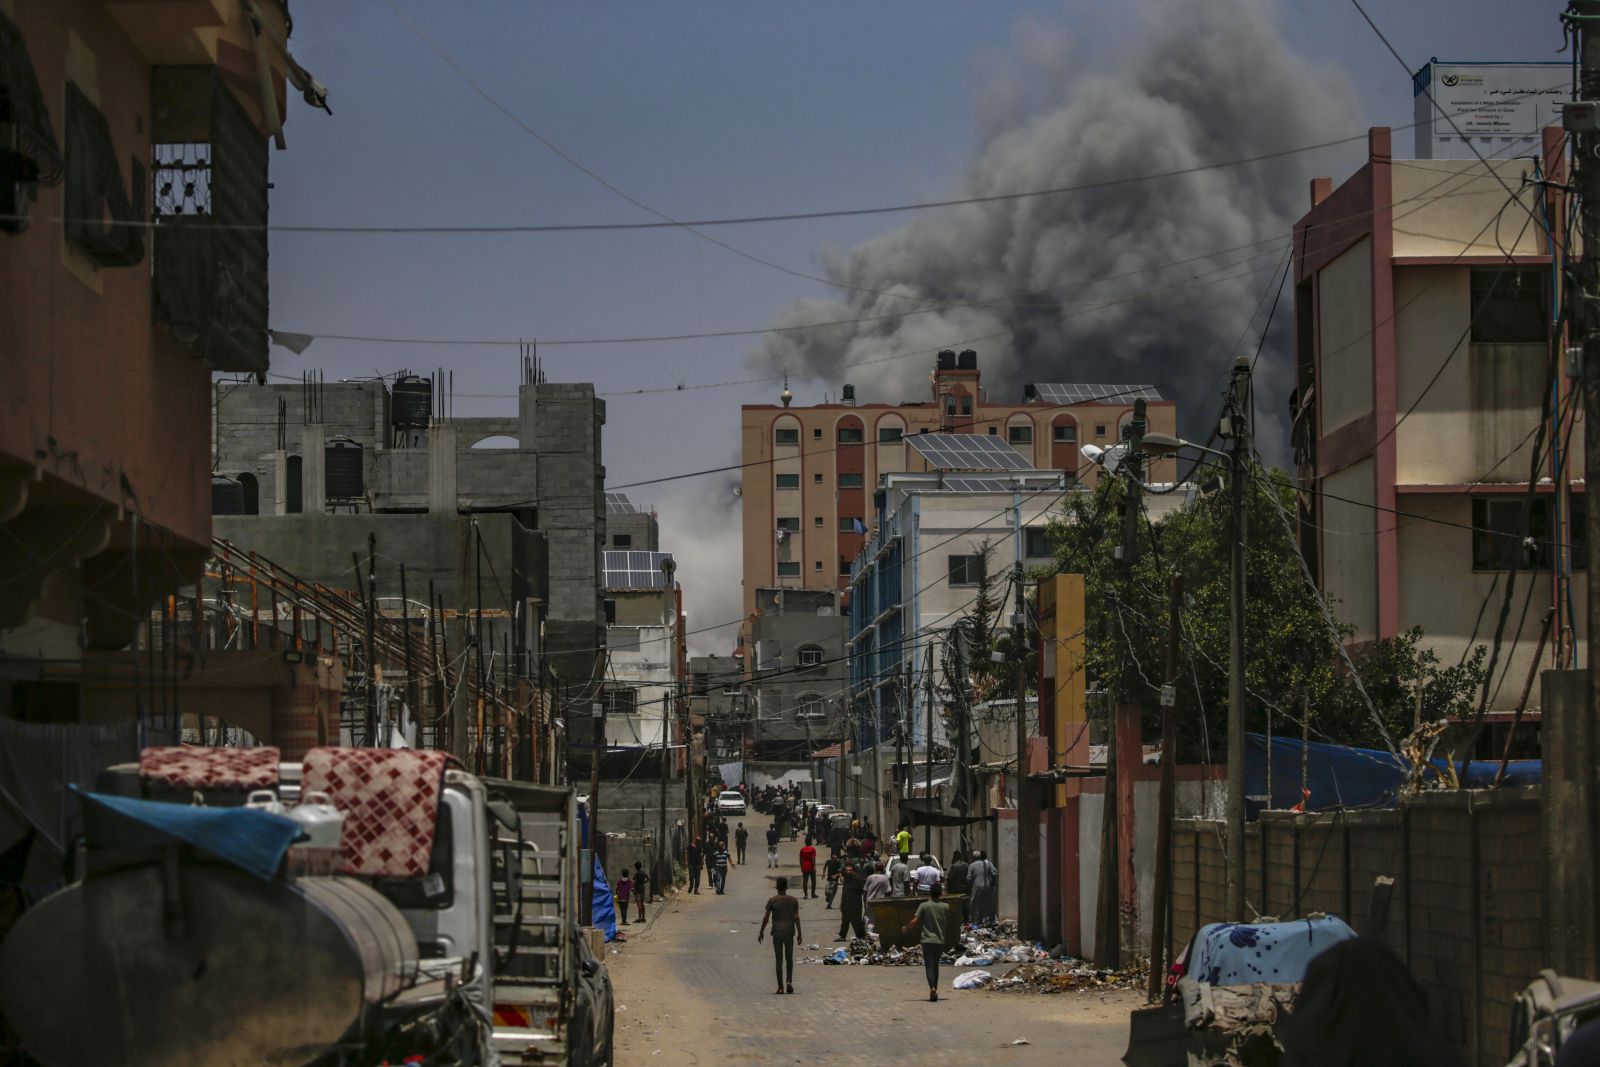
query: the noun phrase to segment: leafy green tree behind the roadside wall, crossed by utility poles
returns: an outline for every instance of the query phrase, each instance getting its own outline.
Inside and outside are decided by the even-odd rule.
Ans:
[[[1395,742],[1411,731],[1419,675],[1424,720],[1470,712],[1483,685],[1483,649],[1459,665],[1440,667],[1430,651],[1419,657],[1421,630],[1374,641],[1354,657],[1373,705],[1362,697],[1338,654],[1355,630],[1342,622],[1330,629],[1298,558],[1293,520],[1285,522],[1294,514],[1291,485],[1282,472],[1256,469],[1246,496],[1248,729],[1264,731],[1270,712],[1277,731],[1298,731],[1304,705],[1315,739],[1387,747],[1384,731]],[[1181,569],[1179,753],[1184,760],[1219,760],[1227,731],[1227,499],[1203,496],[1158,525],[1146,523],[1136,558],[1122,563],[1112,553],[1120,542],[1117,515],[1126,504],[1123,480],[1106,477],[1091,493],[1072,494],[1050,526],[1058,566],[1085,576],[1090,686],[1112,701],[1142,705],[1146,736],[1155,736],[1166,680],[1168,579],[1173,568]]]

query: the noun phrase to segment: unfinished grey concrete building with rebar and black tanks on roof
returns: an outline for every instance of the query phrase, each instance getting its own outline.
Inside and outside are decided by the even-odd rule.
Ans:
[[[410,374],[214,389],[218,537],[373,595],[389,617],[442,625],[478,683],[538,686],[550,726],[587,741],[589,717],[568,709],[597,697],[605,664],[605,402],[592,386],[526,381],[515,414],[475,418],[443,414],[434,382]],[[424,726],[443,717],[406,710]],[[458,750],[462,733],[506,771],[531,758],[478,726]]]

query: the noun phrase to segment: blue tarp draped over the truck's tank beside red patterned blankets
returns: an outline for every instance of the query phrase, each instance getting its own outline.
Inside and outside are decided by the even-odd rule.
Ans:
[[[91,793],[83,798],[83,833],[90,848],[157,848],[182,841],[240,870],[270,880],[283,854],[304,837],[299,824],[256,808],[192,808],[189,805]]]

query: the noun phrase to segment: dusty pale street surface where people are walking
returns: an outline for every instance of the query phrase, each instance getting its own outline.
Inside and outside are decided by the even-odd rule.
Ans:
[[[802,901],[795,993],[774,995],[773,952],[757,944],[773,878],[798,881],[797,845],[784,843],[779,870],[738,867],[726,896],[702,888],[659,904],[650,929],[624,928],[606,953],[616,985],[619,1067],[664,1064],[931,1062],[1011,1067],[1120,1064],[1128,1046],[1130,992],[1059,995],[952,990],[944,968],[939,1003],[928,1003],[920,966],[800,963],[835,947],[838,912]],[[805,944],[822,945],[808,952]],[[1006,968],[986,968],[1000,976]],[[1027,1045],[1011,1045],[1024,1038]]]

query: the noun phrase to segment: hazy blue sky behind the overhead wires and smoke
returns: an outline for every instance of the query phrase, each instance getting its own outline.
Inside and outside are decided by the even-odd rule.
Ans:
[[[1136,50],[1149,19],[1160,18],[1149,3],[1059,0],[394,3],[523,122],[677,218],[949,195],[986,133],[1003,122],[998,114],[1048,107],[1051,91],[1069,93],[1074,77],[1114,67]],[[1368,11],[1414,67],[1429,56],[1555,59],[1560,6],[1390,0],[1370,3]],[[1285,0],[1275,11],[1290,46],[1320,64],[1309,67],[1309,78],[1342,72],[1354,86],[1357,123],[1341,133],[1410,122],[1410,80],[1354,6]],[[291,101],[288,150],[272,155],[275,222],[650,218],[498,114],[387,0],[298,3],[291,48],[328,85],[334,114]],[[1011,91],[1024,61],[1058,69]],[[1320,138],[1307,138],[1314,139]],[[1405,134],[1395,139],[1397,147],[1408,144]],[[1339,179],[1358,158],[1358,150],[1322,152],[1314,170]],[[715,235],[822,274],[829,250],[902,222],[906,216],[877,216]],[[819,283],[675,230],[272,238],[272,323],[306,333],[530,339],[698,333],[760,328],[795,299],[827,294]],[[749,378],[754,349],[755,341],[744,338],[547,346],[541,355],[552,379],[594,381],[603,394],[622,394]],[[323,368],[330,379],[446,366],[454,370],[458,414],[509,411],[515,390],[514,350],[334,341],[318,341],[302,357],[274,349],[275,373],[298,378],[306,366]],[[837,387],[794,382],[802,402]],[[605,438],[611,483],[731,462],[739,403],[771,402],[779,389],[611,397]],[[630,493],[662,507],[669,542],[675,530],[694,530],[683,512],[707,504],[683,485]],[[736,601],[736,595],[707,598]]]

